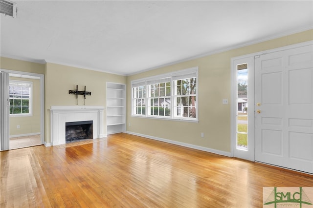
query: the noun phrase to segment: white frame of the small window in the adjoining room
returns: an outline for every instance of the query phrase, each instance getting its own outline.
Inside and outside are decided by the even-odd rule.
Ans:
[[[29,87],[29,98],[28,98],[28,113],[16,113],[16,114],[11,114],[10,117],[27,117],[27,116],[33,116],[33,82],[30,81],[22,81],[22,80],[9,80],[9,87],[10,86],[27,86]],[[9,100],[11,100],[9,96]],[[13,99],[14,100],[14,99]],[[27,100],[27,99],[22,99],[21,100]],[[10,105],[14,106],[14,105]]]

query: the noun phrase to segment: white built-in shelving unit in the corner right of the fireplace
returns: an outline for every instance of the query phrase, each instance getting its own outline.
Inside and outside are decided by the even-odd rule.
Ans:
[[[107,134],[126,131],[126,85],[107,82]]]

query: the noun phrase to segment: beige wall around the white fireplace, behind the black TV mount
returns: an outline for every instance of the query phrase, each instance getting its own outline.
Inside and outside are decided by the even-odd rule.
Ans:
[[[52,105],[76,105],[76,96],[68,90],[91,92],[86,96],[85,105],[106,106],[106,82],[126,83],[126,77],[92,71],[88,69],[65,66],[55,63],[45,65],[45,139],[50,143],[50,108]],[[78,105],[83,105],[82,95],[78,95]],[[104,134],[106,132],[106,110],[104,111]]]

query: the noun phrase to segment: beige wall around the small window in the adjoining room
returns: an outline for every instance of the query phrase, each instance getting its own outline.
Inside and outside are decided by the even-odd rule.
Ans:
[[[10,117],[10,136],[40,133],[40,80],[10,77],[10,80],[32,82],[32,116]],[[20,128],[17,128],[20,125]]]

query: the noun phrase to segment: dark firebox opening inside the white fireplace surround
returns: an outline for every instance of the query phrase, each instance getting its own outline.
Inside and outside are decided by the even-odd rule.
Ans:
[[[93,121],[65,123],[66,143],[84,139],[93,139],[92,123]]]

